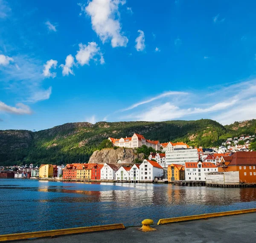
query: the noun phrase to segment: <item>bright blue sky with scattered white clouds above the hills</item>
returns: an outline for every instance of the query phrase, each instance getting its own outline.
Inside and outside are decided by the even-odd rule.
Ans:
[[[256,118],[256,2],[0,0],[0,129]]]

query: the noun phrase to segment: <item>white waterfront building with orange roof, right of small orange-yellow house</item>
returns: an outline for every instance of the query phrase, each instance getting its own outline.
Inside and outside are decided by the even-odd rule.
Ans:
[[[185,163],[186,181],[205,181],[205,174],[209,172],[218,172],[217,166],[211,162]]]

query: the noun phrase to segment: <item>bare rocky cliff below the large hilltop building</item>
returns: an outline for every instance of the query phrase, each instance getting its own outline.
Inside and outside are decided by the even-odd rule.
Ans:
[[[118,160],[121,160],[124,163],[134,163],[134,160],[143,160],[144,154],[136,154],[134,149],[102,149],[96,150],[93,152],[90,157],[89,163],[110,163],[116,164]]]

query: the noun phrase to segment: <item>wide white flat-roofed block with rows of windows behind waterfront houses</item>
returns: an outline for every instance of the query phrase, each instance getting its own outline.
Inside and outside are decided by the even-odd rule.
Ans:
[[[166,166],[171,164],[185,165],[185,162],[198,162],[197,149],[174,149],[166,151]]]

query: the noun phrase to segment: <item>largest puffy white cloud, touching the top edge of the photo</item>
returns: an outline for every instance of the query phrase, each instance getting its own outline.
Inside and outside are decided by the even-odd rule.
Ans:
[[[88,5],[79,3],[81,11],[91,17],[92,28],[105,43],[111,40],[111,46],[126,46],[128,38],[122,33],[119,5],[125,4],[122,0],[92,0]]]

